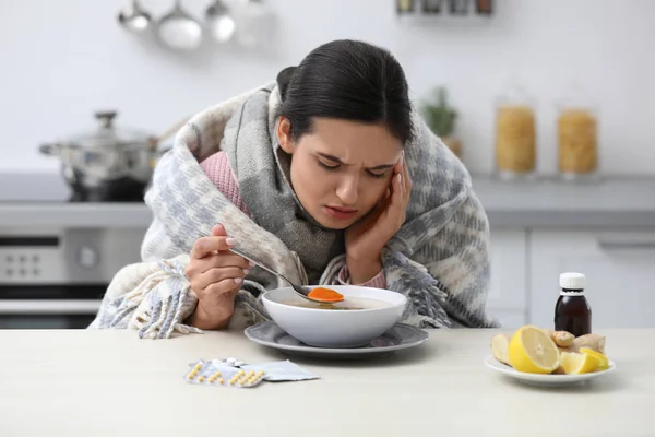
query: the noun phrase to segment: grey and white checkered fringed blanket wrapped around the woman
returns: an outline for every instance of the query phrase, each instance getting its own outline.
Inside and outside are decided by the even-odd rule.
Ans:
[[[299,205],[285,178],[288,163],[272,134],[278,104],[278,88],[269,84],[201,111],[180,129],[146,192],[154,220],[143,240],[142,262],[115,275],[90,329],[133,329],[148,339],[202,332],[184,323],[198,303],[184,269],[194,241],[210,235],[216,223],[242,250],[293,281],[307,284],[318,274],[321,284],[338,283],[345,256],[332,249],[338,247],[340,234],[317,234],[296,214]],[[487,216],[464,166],[416,113],[413,117],[417,135],[405,149],[413,192],[405,224],[382,252],[388,288],[408,298],[403,322],[498,327],[486,312]],[[218,150],[228,155],[253,218],[230,203],[200,167]],[[228,329],[267,320],[261,294],[286,284],[276,276],[253,269],[236,296]]]

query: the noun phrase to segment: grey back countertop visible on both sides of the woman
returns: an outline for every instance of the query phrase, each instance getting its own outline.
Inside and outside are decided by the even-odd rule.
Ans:
[[[595,184],[473,180],[493,228],[655,227],[655,178]],[[0,175],[0,227],[147,227],[152,220],[142,203],[70,203],[59,175]]]

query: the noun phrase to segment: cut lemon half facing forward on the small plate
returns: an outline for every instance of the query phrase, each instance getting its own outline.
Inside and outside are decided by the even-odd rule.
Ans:
[[[532,324],[514,332],[510,340],[509,358],[514,369],[527,374],[552,374],[560,364],[555,342]]]

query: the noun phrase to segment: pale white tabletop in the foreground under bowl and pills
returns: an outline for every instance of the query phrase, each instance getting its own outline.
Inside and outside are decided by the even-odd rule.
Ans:
[[[290,359],[321,379],[187,383],[199,358],[287,359],[238,332],[0,331],[2,436],[652,436],[655,330],[598,332],[617,369],[565,389],[488,369],[490,330],[437,330],[371,362]]]

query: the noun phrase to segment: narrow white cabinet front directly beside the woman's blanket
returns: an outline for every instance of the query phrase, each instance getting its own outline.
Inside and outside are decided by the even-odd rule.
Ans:
[[[526,232],[491,232],[491,279],[487,309],[505,328],[525,323],[527,303]]]

